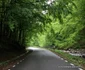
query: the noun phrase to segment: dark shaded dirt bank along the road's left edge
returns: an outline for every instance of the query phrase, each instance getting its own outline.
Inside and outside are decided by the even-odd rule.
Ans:
[[[19,54],[16,54],[16,53],[13,53],[13,52],[10,52],[11,54],[9,55],[1,55],[0,57],[0,63],[1,62],[5,62],[3,64],[0,65],[0,70],[8,70],[9,68],[11,68],[13,65],[15,65],[17,62],[19,62],[20,60],[22,60],[27,53],[19,53]],[[18,57],[16,59],[16,57]],[[15,58],[15,59],[14,59]],[[9,60],[9,62],[6,62],[7,60]]]

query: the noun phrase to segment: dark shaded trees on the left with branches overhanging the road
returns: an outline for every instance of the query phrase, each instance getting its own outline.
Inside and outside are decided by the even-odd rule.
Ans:
[[[45,29],[47,23],[72,14],[73,0],[1,0],[1,38],[25,45],[28,38]],[[2,35],[3,34],[3,35]],[[31,38],[30,38],[31,37]]]

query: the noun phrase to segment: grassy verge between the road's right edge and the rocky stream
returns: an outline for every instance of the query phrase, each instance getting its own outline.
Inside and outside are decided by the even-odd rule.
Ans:
[[[63,52],[61,50],[52,50],[52,51],[56,53],[57,55],[59,55],[60,57],[68,60],[68,62],[73,63],[74,65],[79,66],[85,70],[85,59],[84,58],[70,55],[69,53]]]

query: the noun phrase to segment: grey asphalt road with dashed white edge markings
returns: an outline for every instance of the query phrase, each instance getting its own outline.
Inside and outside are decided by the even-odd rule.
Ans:
[[[9,70],[81,70],[49,50],[29,49],[33,52]]]

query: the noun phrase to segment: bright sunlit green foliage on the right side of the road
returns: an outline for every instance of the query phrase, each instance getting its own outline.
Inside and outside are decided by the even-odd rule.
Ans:
[[[63,2],[64,1],[64,2]],[[80,49],[84,46],[85,32],[84,32],[84,0],[72,1],[71,0],[59,0],[54,2],[53,10],[55,12],[54,17],[58,17],[58,12],[61,13],[58,19],[46,25],[46,31],[43,34],[44,37],[39,36],[37,41],[44,38],[42,46],[51,46],[55,44],[58,49]],[[67,4],[67,5],[66,5]],[[56,6],[60,10],[56,10]],[[54,7],[55,6],[55,7]],[[83,6],[83,7],[82,7]],[[49,13],[51,13],[49,12]],[[52,13],[51,13],[52,14]],[[61,20],[62,17],[62,20]],[[59,24],[63,21],[64,24]],[[41,43],[39,43],[41,44]]]

